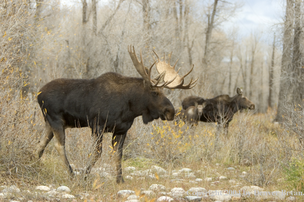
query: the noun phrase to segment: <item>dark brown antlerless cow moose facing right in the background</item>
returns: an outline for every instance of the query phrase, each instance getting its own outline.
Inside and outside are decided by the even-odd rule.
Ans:
[[[183,100],[182,106],[183,109],[185,109],[184,106],[195,106],[195,103],[200,100],[200,102],[205,103],[203,115],[200,120],[203,122],[223,124],[226,133],[228,133],[229,122],[238,110],[254,109],[254,104],[243,94],[242,89],[237,88],[236,93],[233,97],[229,95],[219,95],[211,99],[189,96]]]

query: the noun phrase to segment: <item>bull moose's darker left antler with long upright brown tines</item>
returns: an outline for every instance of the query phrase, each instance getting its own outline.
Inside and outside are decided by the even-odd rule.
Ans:
[[[132,52],[132,47],[133,47],[133,52]],[[128,46],[128,52],[129,52],[129,55],[133,61],[133,64],[134,64],[136,70],[141,75],[141,77],[144,79],[144,81],[147,82],[150,86],[163,87],[165,85],[170,84],[177,78],[177,76],[176,76],[176,77],[171,78],[170,81],[167,80],[167,82],[164,82],[163,84],[159,84],[160,82],[162,82],[164,80],[165,74],[166,74],[166,71],[162,71],[161,73],[159,73],[159,75],[157,75],[157,77],[154,80],[151,80],[151,69],[154,66],[154,64],[157,62],[157,60],[150,66],[150,68],[148,70],[146,70],[146,67],[143,64],[141,50],[140,50],[140,62],[136,56],[134,46],[132,46],[132,45]]]

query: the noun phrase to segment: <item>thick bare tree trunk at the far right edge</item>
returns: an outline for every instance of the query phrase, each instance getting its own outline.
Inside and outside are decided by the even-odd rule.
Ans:
[[[303,64],[303,53],[301,45],[303,41],[302,35],[302,15],[301,15],[301,2],[295,0],[295,28],[294,28],[294,41],[293,41],[293,58],[292,58],[292,72],[293,72],[293,102],[296,105],[303,105],[303,94],[304,94],[304,82],[302,64]]]

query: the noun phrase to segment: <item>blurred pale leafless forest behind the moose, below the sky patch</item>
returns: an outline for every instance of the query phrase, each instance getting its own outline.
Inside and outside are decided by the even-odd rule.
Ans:
[[[161,55],[173,52],[171,63],[179,59],[181,74],[194,64],[198,85],[167,91],[175,107],[188,95],[233,96],[240,87],[257,112],[265,113],[278,104],[287,28],[273,24],[271,41],[263,39],[261,30],[242,37],[237,27],[225,32],[224,24],[241,9],[241,2],[218,0],[79,0],[69,6],[59,0],[2,0],[2,84],[24,97],[56,78],[90,79],[107,71],[138,77],[126,48],[132,44],[137,53],[142,49],[146,66],[153,61],[153,49]],[[288,22],[294,30],[292,10]],[[291,51],[294,32],[289,32]],[[7,80],[9,71],[15,74]]]

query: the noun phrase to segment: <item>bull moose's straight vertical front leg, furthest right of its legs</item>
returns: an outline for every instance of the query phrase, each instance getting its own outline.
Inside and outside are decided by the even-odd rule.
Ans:
[[[112,137],[112,145],[115,152],[115,159],[116,159],[116,182],[117,183],[124,183],[124,180],[122,178],[122,169],[121,169],[121,159],[122,159],[122,147],[123,142],[126,137],[126,133],[123,135],[115,135],[113,134]]]

